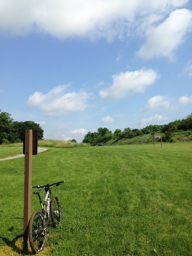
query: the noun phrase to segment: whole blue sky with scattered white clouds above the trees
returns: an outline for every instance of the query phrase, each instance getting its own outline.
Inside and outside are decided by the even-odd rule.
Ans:
[[[0,0],[0,109],[44,138],[192,112],[187,0]]]

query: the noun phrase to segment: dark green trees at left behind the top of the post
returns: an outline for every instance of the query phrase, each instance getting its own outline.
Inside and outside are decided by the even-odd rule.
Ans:
[[[43,140],[44,130],[33,121],[17,122],[11,114],[0,110],[0,144],[23,142],[25,130],[37,130],[38,140]]]

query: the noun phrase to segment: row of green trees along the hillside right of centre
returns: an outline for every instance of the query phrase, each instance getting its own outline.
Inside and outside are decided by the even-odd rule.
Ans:
[[[192,113],[185,119],[175,120],[174,122],[169,122],[165,125],[147,125],[142,129],[131,129],[125,128],[123,131],[121,129],[116,129],[114,133],[109,131],[108,128],[98,128],[96,132],[88,132],[85,134],[83,143],[90,143],[91,145],[97,145],[98,143],[106,143],[109,140],[121,140],[121,139],[131,139],[137,136],[142,136],[144,134],[154,134],[162,133],[163,141],[173,142],[173,133],[178,131],[192,131]]]

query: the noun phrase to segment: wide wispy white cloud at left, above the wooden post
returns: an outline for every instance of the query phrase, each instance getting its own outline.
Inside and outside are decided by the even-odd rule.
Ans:
[[[59,85],[47,94],[35,92],[29,96],[27,106],[39,107],[48,116],[59,116],[71,111],[84,111],[90,94],[85,91],[65,93],[66,85]]]

